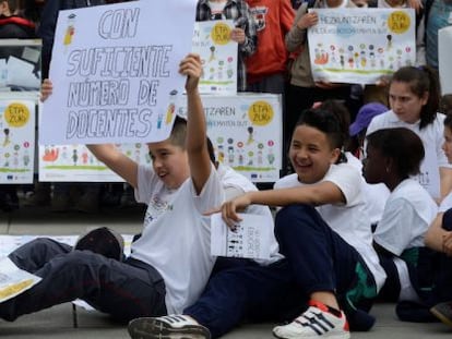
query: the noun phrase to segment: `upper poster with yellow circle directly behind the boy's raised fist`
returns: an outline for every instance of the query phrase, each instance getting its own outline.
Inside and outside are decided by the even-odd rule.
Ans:
[[[201,56],[201,94],[237,93],[238,45],[230,39],[233,20],[197,22],[192,51]]]

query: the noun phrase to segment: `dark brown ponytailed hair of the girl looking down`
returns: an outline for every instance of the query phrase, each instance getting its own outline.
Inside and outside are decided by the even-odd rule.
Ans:
[[[427,65],[404,66],[392,75],[391,82],[394,81],[407,83],[409,89],[419,98],[428,93],[427,104],[420,110],[419,130],[433,122],[440,100],[440,85],[436,72]]]

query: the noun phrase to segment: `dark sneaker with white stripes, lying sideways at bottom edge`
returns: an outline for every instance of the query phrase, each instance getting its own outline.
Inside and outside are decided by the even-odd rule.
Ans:
[[[136,318],[128,330],[132,339],[211,339],[207,328],[185,315]]]

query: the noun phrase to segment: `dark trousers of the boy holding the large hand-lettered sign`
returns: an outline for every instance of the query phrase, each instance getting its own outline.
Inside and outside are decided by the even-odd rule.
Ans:
[[[43,280],[0,303],[0,317],[5,320],[75,299],[120,322],[166,314],[165,283],[142,262],[129,258],[121,263],[90,251],[72,251],[46,238],[26,243],[9,257]]]

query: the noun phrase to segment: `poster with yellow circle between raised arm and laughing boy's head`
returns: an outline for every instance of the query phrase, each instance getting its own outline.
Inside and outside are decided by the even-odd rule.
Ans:
[[[187,116],[180,98],[178,114]],[[216,159],[253,182],[274,182],[282,167],[282,105],[272,94],[203,95]]]

